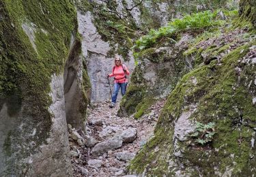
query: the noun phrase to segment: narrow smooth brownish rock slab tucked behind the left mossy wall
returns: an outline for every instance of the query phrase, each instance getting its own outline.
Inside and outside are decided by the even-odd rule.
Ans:
[[[81,42],[74,39],[64,68],[64,96],[67,123],[76,129],[85,129],[86,96],[83,93],[83,61]]]

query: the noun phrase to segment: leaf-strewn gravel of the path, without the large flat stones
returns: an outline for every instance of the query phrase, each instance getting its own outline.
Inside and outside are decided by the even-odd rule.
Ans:
[[[129,163],[127,155],[128,159],[133,157],[153,135],[164,102],[162,100],[155,103],[151,107],[152,111],[140,120],[135,120],[133,116],[122,118],[116,116],[119,103],[115,108],[109,108],[109,103],[106,101],[89,106],[87,109],[87,134],[77,131],[85,141],[88,137],[93,137],[98,143],[104,142],[124,130],[132,128],[137,130],[137,138],[132,143],[123,142],[120,148],[107,150],[100,156],[93,156],[91,155],[93,147],[79,146],[77,141],[70,137],[70,150],[78,152],[77,155],[72,155],[71,159],[74,176],[125,176],[125,169]],[[126,156],[119,158],[118,152],[125,152]]]

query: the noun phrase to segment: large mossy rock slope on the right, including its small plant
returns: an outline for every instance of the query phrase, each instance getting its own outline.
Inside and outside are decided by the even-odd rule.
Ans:
[[[251,20],[250,14],[240,20],[246,16]],[[255,174],[255,29],[236,22],[231,31],[190,43],[184,53],[195,59],[194,69],[171,91],[154,137],[132,160],[130,174]]]

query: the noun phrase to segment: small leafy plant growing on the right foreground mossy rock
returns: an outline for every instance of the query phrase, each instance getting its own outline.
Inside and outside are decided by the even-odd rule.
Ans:
[[[190,135],[197,144],[204,146],[209,142],[212,142],[215,135],[215,127],[216,123],[208,123],[203,124],[197,122],[195,132]]]

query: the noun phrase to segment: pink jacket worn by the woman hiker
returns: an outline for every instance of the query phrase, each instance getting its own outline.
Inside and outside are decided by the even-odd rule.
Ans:
[[[115,83],[124,83],[128,82],[126,75],[130,75],[130,71],[128,71],[128,68],[126,65],[115,65],[113,66],[112,73],[109,74],[109,77],[113,77],[115,79]]]

